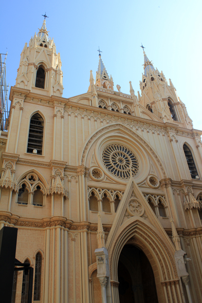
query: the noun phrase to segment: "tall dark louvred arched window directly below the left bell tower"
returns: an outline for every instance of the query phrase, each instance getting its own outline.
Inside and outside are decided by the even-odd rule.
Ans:
[[[37,154],[42,155],[43,135],[44,120],[39,113],[35,113],[30,120],[27,153],[32,154],[33,150],[36,149]]]

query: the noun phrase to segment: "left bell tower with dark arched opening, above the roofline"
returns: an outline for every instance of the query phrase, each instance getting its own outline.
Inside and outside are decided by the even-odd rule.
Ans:
[[[34,34],[25,43],[21,53],[20,66],[17,70],[16,87],[29,89],[31,92],[45,96],[59,96],[63,93],[63,73],[60,53],[56,53],[53,39],[48,37],[44,19],[39,33]]]

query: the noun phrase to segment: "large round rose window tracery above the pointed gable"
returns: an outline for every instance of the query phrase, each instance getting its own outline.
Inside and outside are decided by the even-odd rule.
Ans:
[[[129,179],[132,169],[133,177],[139,170],[139,163],[134,153],[127,147],[112,144],[105,147],[102,153],[104,166],[108,171],[121,179]]]

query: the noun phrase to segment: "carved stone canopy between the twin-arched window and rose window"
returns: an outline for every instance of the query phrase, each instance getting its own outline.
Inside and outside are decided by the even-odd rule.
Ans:
[[[46,195],[62,194],[64,197],[68,198],[68,191],[64,186],[64,176],[61,170],[58,168],[51,176],[50,182],[46,187]]]

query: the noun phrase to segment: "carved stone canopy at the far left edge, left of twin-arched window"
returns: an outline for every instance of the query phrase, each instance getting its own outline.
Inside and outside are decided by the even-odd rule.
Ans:
[[[9,187],[11,191],[18,192],[19,186],[15,179],[15,169],[13,169],[13,164],[9,161],[2,168],[2,176],[0,179],[0,186],[7,188]]]

